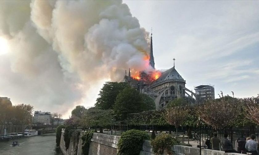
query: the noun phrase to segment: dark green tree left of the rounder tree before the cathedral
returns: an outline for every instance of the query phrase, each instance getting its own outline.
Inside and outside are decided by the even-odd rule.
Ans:
[[[100,109],[112,109],[117,95],[129,85],[125,82],[106,82],[99,92],[95,106]]]

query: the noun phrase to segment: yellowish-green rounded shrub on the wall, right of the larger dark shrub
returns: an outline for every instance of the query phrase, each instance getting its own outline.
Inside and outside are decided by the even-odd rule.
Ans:
[[[153,152],[155,154],[168,153],[172,154],[172,145],[179,144],[176,138],[171,137],[171,135],[163,133],[158,135],[154,140],[151,141],[153,147]]]

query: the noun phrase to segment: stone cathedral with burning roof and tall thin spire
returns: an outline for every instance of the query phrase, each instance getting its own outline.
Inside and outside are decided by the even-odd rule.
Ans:
[[[134,78],[130,75],[130,69],[128,75],[126,75],[124,82],[129,83],[132,87],[139,90],[141,93],[145,93],[154,99],[156,109],[164,108],[167,103],[175,98],[187,97],[191,102],[195,102],[196,94],[185,87],[186,81],[175,69],[174,66],[164,72],[156,74],[154,72],[139,72],[138,78]],[[153,41],[151,33],[150,43],[150,66],[155,68],[154,56],[153,56]],[[187,93],[189,92],[189,93]]]

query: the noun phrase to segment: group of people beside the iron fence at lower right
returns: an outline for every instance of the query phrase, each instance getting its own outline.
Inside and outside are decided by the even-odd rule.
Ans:
[[[241,146],[241,153],[252,153],[252,155],[259,155],[259,141],[255,141],[256,136],[252,134],[250,137],[246,138],[246,142]],[[224,134],[224,138],[220,140],[218,134],[214,133],[213,137],[210,140],[213,150],[220,150],[220,145],[222,151],[226,153],[239,153],[232,148],[232,143],[228,140],[228,134]]]

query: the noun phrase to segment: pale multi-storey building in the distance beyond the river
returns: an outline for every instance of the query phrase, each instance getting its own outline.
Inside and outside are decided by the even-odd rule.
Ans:
[[[50,124],[51,113],[35,111],[32,119],[33,124]]]

